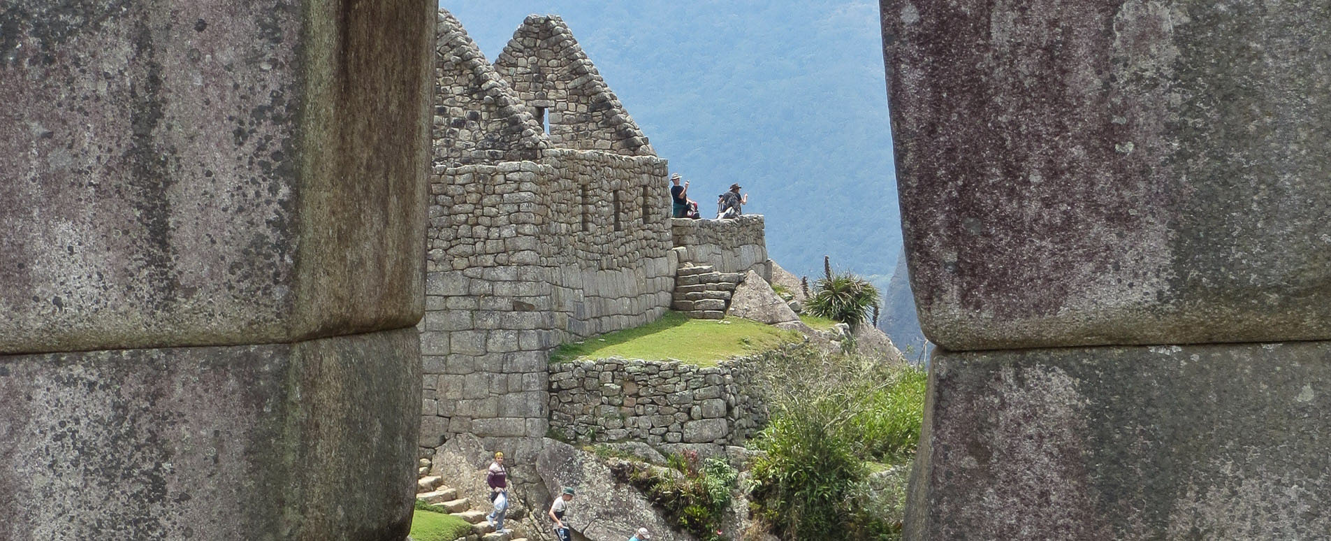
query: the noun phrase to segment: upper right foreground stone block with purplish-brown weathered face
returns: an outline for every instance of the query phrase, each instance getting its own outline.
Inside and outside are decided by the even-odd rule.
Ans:
[[[1331,4],[881,8],[930,340],[1331,338]]]

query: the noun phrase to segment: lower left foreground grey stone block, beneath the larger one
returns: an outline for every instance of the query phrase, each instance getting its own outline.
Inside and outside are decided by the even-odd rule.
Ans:
[[[417,332],[0,356],[0,538],[407,533]]]

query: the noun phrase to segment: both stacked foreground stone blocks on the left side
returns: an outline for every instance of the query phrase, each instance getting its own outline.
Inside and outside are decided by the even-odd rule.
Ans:
[[[0,8],[0,538],[407,534],[434,8],[351,4]]]

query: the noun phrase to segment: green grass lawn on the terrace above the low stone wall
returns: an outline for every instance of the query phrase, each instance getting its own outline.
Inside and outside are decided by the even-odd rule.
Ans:
[[[716,361],[724,358],[765,352],[801,340],[804,337],[799,332],[781,330],[741,317],[691,320],[679,312],[668,312],[660,320],[643,326],[560,345],[550,354],[550,361],[606,357],[650,361],[677,358],[713,366]]]

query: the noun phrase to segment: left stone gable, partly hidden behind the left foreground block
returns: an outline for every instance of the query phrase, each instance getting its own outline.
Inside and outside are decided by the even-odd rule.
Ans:
[[[536,160],[550,141],[475,41],[439,9],[435,44],[434,164]]]

